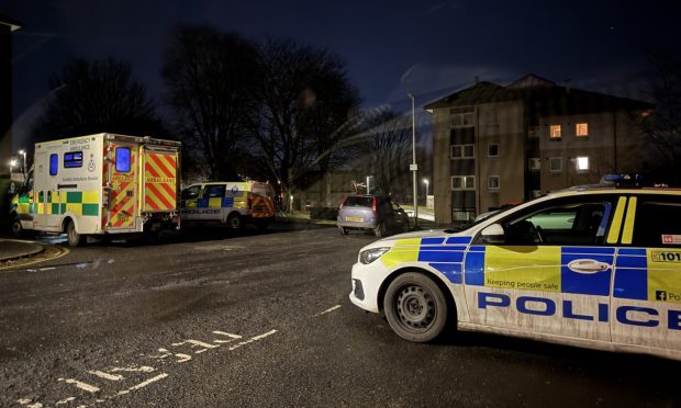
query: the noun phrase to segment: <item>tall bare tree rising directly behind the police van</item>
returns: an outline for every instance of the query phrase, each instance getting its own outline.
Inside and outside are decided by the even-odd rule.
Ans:
[[[180,26],[164,55],[161,73],[182,140],[196,151],[205,175],[236,178],[247,117],[255,110],[255,47],[236,34]]]

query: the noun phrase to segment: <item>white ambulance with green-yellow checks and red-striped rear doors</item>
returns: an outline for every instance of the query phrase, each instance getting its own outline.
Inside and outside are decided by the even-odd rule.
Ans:
[[[109,133],[35,145],[33,168],[13,197],[12,231],[126,237],[179,228],[179,141]]]

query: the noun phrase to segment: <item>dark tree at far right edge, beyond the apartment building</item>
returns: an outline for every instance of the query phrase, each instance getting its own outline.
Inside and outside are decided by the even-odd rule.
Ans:
[[[654,170],[662,180],[681,183],[681,63],[671,56],[654,54],[657,83],[652,91],[656,109],[643,122],[643,131],[657,152]]]

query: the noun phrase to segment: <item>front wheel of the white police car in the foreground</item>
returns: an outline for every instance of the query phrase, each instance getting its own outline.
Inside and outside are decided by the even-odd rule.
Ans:
[[[439,286],[429,277],[409,272],[398,276],[386,291],[386,318],[401,338],[427,342],[447,326],[449,310]]]

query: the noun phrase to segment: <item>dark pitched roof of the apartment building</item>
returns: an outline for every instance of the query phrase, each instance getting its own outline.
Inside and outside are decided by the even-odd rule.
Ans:
[[[535,75],[527,75],[507,87],[478,82],[424,106],[426,110],[471,106],[485,103],[523,102],[531,113],[565,115],[578,113],[645,111],[650,103],[604,93],[557,86]]]

